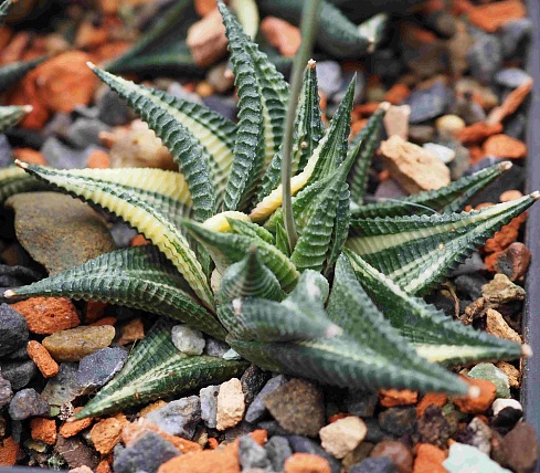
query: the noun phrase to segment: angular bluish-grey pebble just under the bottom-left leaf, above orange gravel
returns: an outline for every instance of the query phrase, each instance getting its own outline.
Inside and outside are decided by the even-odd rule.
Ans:
[[[146,418],[163,432],[192,440],[201,420],[199,396],[178,399],[148,413]]]

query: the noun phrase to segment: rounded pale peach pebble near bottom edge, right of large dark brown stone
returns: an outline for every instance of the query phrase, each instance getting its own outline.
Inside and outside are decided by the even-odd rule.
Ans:
[[[320,429],[320,444],[331,455],[342,459],[362,442],[367,433],[362,419],[349,416]]]

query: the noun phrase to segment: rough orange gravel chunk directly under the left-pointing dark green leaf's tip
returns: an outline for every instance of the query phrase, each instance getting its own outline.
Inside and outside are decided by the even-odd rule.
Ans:
[[[75,306],[64,297],[30,297],[11,307],[24,316],[34,334],[51,335],[80,324]]]

